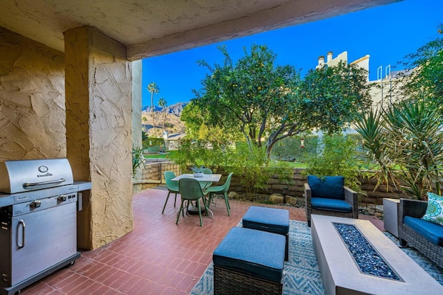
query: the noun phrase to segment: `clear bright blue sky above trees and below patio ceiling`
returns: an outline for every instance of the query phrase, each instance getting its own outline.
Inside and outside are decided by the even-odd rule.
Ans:
[[[170,53],[143,60],[142,105],[150,105],[146,87],[155,82],[160,91],[154,94],[154,105],[164,98],[168,105],[189,102],[192,89],[201,89],[207,70],[197,60],[221,63],[217,49],[225,44],[233,60],[244,56],[244,47],[266,44],[277,55],[277,64],[291,64],[302,75],[318,64],[318,57],[332,51],[334,57],[347,51],[348,62],[370,55],[370,80],[377,79],[377,68],[389,64],[392,71],[401,69],[397,62],[405,55],[437,37],[437,26],[443,24],[442,0],[405,0],[347,15],[314,21],[298,26],[271,30],[227,42]],[[441,36],[441,35],[440,35]]]

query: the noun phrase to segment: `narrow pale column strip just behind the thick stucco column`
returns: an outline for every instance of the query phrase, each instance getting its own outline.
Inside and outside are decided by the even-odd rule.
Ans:
[[[141,147],[141,70],[142,61],[132,62],[132,146]],[[134,181],[141,180],[141,169],[138,168]]]

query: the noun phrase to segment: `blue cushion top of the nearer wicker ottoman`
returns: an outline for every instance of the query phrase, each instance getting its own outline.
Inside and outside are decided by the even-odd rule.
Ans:
[[[284,263],[283,235],[234,227],[213,253],[214,265],[279,282]]]

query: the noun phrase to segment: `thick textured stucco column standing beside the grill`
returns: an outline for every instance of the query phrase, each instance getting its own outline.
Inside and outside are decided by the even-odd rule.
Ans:
[[[95,28],[64,37],[66,154],[74,179],[92,182],[78,213],[78,247],[96,249],[133,229],[132,64],[123,44]]]

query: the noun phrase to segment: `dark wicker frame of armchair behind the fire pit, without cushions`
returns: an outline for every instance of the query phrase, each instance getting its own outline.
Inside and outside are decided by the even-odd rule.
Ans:
[[[343,210],[342,208],[337,208],[336,206],[331,206],[330,208],[325,208],[325,206],[316,206],[312,204],[312,199],[320,199],[322,198],[321,194],[313,191],[311,189],[311,186],[309,186],[309,179],[310,177],[313,177],[312,175],[308,176],[308,183],[305,184],[305,209],[306,209],[306,219],[307,219],[307,225],[311,226],[311,214],[318,214],[318,215],[329,215],[329,216],[336,216],[336,217],[347,217],[347,218],[359,218],[359,200],[358,200],[358,193],[356,193],[354,190],[351,190],[347,186],[343,185],[343,196],[340,196],[334,198],[332,202],[335,202],[336,199],[339,202],[342,202],[345,204],[345,206],[349,206],[349,210]],[[329,177],[326,177],[327,179]],[[332,177],[331,177],[332,178]],[[327,183],[325,183],[325,186]]]

